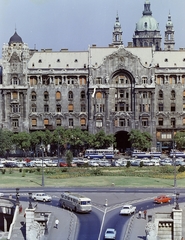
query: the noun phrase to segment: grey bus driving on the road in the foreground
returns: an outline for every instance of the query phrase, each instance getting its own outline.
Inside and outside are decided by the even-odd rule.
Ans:
[[[91,212],[92,210],[90,198],[72,192],[63,192],[59,200],[59,205],[64,209],[81,213]]]

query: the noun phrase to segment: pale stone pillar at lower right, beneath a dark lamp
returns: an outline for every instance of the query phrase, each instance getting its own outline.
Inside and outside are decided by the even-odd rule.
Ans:
[[[173,239],[182,239],[182,209],[173,209]]]

